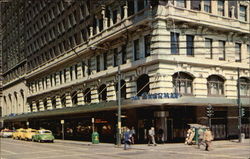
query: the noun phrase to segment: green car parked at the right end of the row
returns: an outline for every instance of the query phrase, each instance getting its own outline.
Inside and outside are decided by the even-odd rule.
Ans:
[[[36,132],[35,135],[32,136],[32,141],[38,142],[54,142],[55,137],[53,136],[50,130],[41,129]]]

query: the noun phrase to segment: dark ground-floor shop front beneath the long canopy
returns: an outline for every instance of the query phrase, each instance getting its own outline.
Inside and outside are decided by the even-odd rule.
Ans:
[[[249,111],[249,108],[245,108],[241,128],[247,138],[250,137]],[[208,125],[205,106],[147,106],[122,109],[122,127],[134,127],[136,143],[147,142],[148,130],[152,126],[155,127],[158,143],[184,142],[189,124],[193,123]],[[214,107],[211,123],[215,139],[238,138],[237,107]],[[6,120],[4,126],[15,129],[28,126],[50,129],[56,138],[64,136],[64,139],[84,141],[91,140],[95,129],[99,133],[100,142],[115,143],[117,110]]]

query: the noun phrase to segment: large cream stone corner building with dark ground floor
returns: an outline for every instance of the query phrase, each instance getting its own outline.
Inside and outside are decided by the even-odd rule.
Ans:
[[[164,141],[183,140],[188,124],[208,124],[208,105],[215,138],[235,138],[238,95],[249,137],[249,2],[9,3],[1,13],[5,126],[60,137],[64,120],[66,138],[88,140],[95,118],[101,141],[112,142],[120,76],[122,126],[134,126],[138,142],[151,126]]]

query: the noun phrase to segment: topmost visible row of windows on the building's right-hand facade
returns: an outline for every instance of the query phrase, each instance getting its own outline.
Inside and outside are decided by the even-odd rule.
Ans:
[[[203,0],[203,6],[201,3],[202,0],[191,0],[191,9],[200,11],[201,8],[204,8],[205,12],[212,13],[212,0]],[[225,16],[225,1],[226,0],[217,0],[217,14],[220,16]],[[175,5],[177,7],[186,8],[187,0],[176,0]],[[239,5],[238,10],[238,1],[228,1],[228,13],[229,17],[236,17],[241,21],[247,21],[247,6]],[[239,11],[239,17],[238,17]]]

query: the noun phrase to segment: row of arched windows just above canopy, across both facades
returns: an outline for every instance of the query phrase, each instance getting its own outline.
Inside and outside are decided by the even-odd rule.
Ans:
[[[173,76],[173,86],[174,86],[174,92],[175,93],[181,93],[182,95],[192,95],[193,94],[193,80],[194,77],[190,76],[187,73],[184,72],[177,72]],[[224,95],[224,82],[225,80],[217,75],[211,75],[207,78],[207,90],[208,90],[208,95],[213,95],[213,96],[222,96]],[[136,88],[137,96],[142,96],[143,94],[147,94],[150,91],[150,86],[149,86],[149,76],[146,74],[141,75],[137,81],[136,81]],[[115,92],[117,96],[118,92],[118,83],[114,85],[115,87]],[[126,99],[126,82],[124,80],[121,80],[121,98]],[[87,88],[83,90],[83,98],[85,103],[91,103],[91,88]],[[107,101],[107,85],[102,84],[97,88],[97,93],[98,93],[98,99],[100,102],[105,102]],[[241,77],[240,78],[240,95],[243,97],[249,97],[250,96],[250,79]],[[77,106],[78,105],[78,97],[77,97],[77,92],[73,92],[70,94],[71,96],[71,101],[72,101],[72,106]],[[57,97],[54,96],[51,99],[52,102],[52,108],[56,108],[56,99]],[[66,107],[66,95],[63,94],[60,97],[61,101],[61,106]],[[47,109],[47,99],[43,101],[45,110]],[[37,109],[39,110],[39,102],[37,102]],[[31,110],[32,110],[32,105],[30,105]]]

